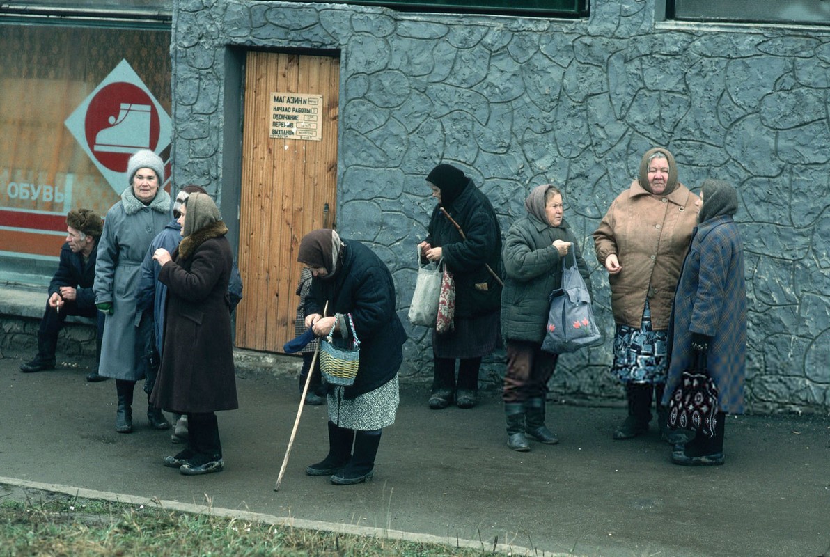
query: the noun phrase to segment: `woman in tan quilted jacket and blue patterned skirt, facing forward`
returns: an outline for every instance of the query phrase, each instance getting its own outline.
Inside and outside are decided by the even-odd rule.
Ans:
[[[639,178],[620,193],[593,232],[597,260],[608,271],[611,309],[617,325],[611,373],[626,388],[628,415],[614,439],[648,431],[652,395],[662,437],[681,442],[666,427],[660,404],[666,384],[666,333],[681,264],[696,224],[694,193],[677,181],[667,149],[649,149]]]

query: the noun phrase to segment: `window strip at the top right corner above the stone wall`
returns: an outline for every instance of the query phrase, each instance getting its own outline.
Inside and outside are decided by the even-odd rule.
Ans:
[[[668,0],[666,18],[691,22],[830,23],[830,0]]]

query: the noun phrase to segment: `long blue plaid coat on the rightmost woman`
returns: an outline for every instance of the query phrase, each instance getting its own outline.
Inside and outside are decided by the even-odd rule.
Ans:
[[[744,247],[732,217],[702,222],[683,262],[669,325],[669,374],[663,403],[694,364],[691,334],[712,337],[706,368],[718,387],[720,411],[744,411],[746,286]]]

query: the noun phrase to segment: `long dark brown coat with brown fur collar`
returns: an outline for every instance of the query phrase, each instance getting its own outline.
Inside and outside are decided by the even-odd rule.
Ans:
[[[151,401],[169,412],[239,407],[227,300],[233,255],[225,234],[221,221],[193,232],[159,271],[159,281],[168,288],[167,310]]]

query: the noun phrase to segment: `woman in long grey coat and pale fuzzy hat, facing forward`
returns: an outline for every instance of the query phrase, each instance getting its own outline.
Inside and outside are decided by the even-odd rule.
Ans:
[[[110,208],[95,262],[95,305],[106,315],[98,373],[115,379],[118,410],[115,431],[133,431],[135,382],[147,375],[153,320],[136,307],[141,261],[153,238],[169,220],[170,196],[164,183],[164,162],[153,151],[138,151],[127,164],[129,188]],[[148,404],[147,418],[155,429],[170,424]]]

